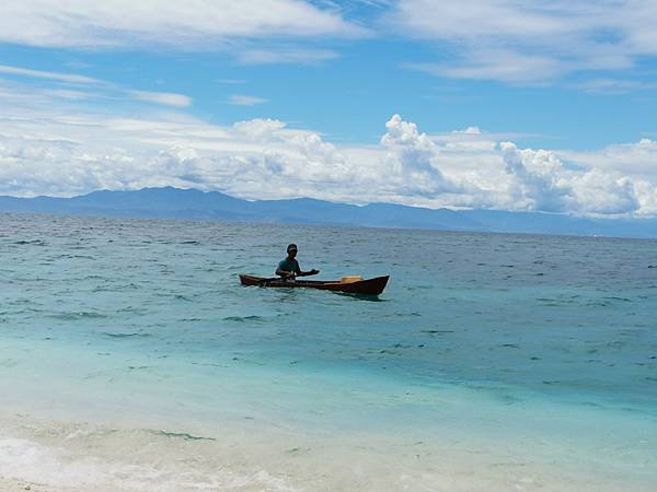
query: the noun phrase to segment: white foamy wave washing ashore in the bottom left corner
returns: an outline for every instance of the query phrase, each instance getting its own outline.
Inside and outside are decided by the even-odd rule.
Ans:
[[[139,458],[127,464],[116,455],[99,453],[96,456],[89,456],[74,450],[77,445],[88,446],[90,438],[107,435],[112,435],[114,441],[110,443],[113,446],[128,446],[131,443],[128,441],[129,435],[124,432],[117,434],[115,430],[103,430],[100,433],[77,429],[73,433],[67,432],[65,440],[73,443],[67,446],[45,446],[25,438],[1,437],[0,468],[10,470],[9,483],[16,484],[11,490],[106,490],[108,483],[112,484],[112,490],[296,490],[285,480],[264,470],[242,475],[239,471],[223,470],[221,462],[214,461],[211,468],[203,467],[192,454],[186,455],[188,459],[180,461],[180,468],[171,470],[160,462],[161,458],[157,453],[154,458],[153,455],[146,454],[146,460]],[[147,435],[151,436],[150,441],[152,436],[196,440],[191,434],[164,431],[150,431]],[[201,438],[214,441],[210,437]],[[150,441],[143,443],[145,446],[151,444]],[[129,450],[128,447],[125,449]],[[164,464],[168,462],[165,458],[171,456],[169,449],[169,446],[161,449],[164,454],[161,461]]]

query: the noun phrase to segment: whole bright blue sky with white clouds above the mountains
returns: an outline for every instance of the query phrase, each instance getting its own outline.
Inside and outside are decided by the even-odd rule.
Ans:
[[[5,0],[0,195],[657,216],[654,0]]]

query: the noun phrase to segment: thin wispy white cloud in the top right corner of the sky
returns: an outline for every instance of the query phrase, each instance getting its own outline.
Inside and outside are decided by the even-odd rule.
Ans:
[[[412,67],[457,79],[544,83],[581,71],[627,72],[639,57],[657,56],[653,0],[401,0],[385,19],[456,55]]]

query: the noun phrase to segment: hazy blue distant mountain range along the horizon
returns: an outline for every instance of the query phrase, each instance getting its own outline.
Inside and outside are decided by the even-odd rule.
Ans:
[[[431,210],[391,203],[358,207],[309,198],[247,201],[216,191],[171,187],[137,191],[103,190],[72,198],[0,197],[0,211],[657,238],[657,219],[584,219],[540,212]]]

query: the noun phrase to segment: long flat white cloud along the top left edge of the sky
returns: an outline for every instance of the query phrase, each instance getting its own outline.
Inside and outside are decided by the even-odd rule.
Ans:
[[[0,43],[115,48],[161,44],[214,49],[234,38],[360,36],[335,11],[300,0],[21,0],[4,2]]]

